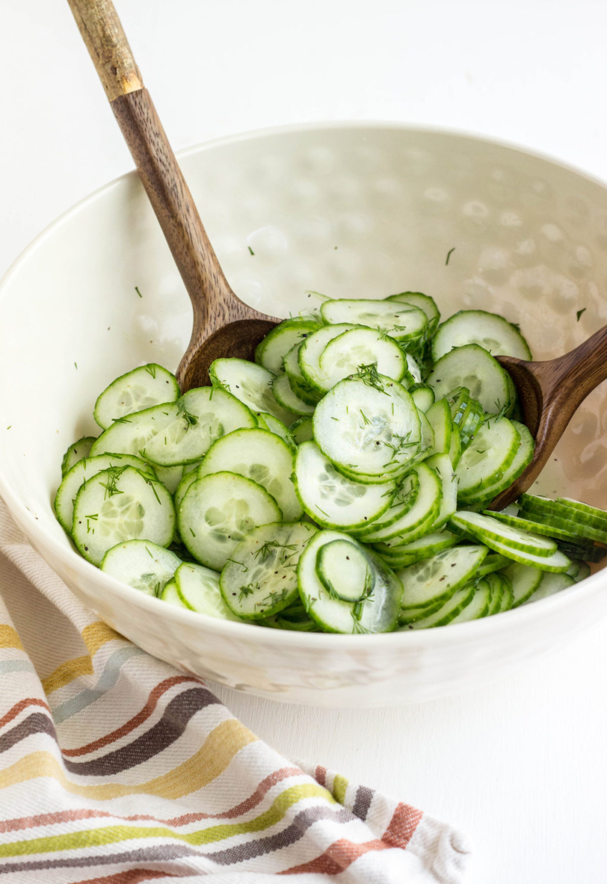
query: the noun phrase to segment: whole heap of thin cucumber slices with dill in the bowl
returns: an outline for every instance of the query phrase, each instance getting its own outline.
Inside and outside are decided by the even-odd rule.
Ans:
[[[494,354],[531,358],[502,316],[441,323],[405,292],[327,298],[183,394],[140,366],[65,453],[58,521],[122,583],[273,629],[427,629],[545,598],[603,558],[607,512],[530,494],[488,511],[534,453]]]

